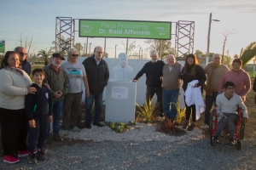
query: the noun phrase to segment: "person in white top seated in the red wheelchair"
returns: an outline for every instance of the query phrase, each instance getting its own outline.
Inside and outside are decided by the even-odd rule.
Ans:
[[[213,144],[218,143],[218,136],[226,125],[229,127],[230,145],[235,145],[235,122],[238,117],[237,106],[242,109],[242,119],[247,123],[248,114],[247,107],[244,105],[241,97],[235,94],[234,82],[226,82],[224,84],[224,93],[218,94],[216,99],[217,116],[220,118],[218,127],[213,137]]]

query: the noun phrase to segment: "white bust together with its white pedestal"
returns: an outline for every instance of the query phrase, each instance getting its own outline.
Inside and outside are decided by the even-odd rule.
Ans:
[[[131,82],[133,69],[127,64],[127,54],[119,54],[119,64],[113,67],[114,79],[107,86],[105,122],[135,121],[137,83]]]

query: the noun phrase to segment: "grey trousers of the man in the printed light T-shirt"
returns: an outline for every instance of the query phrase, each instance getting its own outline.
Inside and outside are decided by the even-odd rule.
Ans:
[[[77,94],[66,94],[64,98],[64,105],[62,108],[62,129],[73,129],[78,125],[78,119],[80,114],[80,104],[83,91]]]

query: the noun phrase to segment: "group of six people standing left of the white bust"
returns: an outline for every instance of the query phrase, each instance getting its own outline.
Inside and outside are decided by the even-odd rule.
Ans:
[[[67,136],[69,131],[81,131],[78,118],[83,85],[85,127],[90,128],[94,100],[93,124],[103,127],[100,122],[102,93],[108,84],[109,71],[102,59],[102,47],[96,47],[94,56],[84,59],[83,64],[77,62],[79,52],[75,48],[68,50],[67,62],[63,64],[65,58],[60,53],[52,54],[49,65],[32,71],[33,82],[26,55],[23,47],[8,51],[0,67],[0,77],[4,80],[0,82],[1,139],[3,161],[8,163],[18,162],[22,156],[28,156],[29,163],[47,159],[44,145],[52,142],[50,122],[55,141],[62,141],[61,135]]]

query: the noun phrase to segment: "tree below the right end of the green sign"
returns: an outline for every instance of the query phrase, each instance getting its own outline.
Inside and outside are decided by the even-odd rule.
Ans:
[[[175,49],[172,48],[171,40],[156,40],[156,39],[148,39],[144,41],[149,45],[147,50],[150,51],[156,50],[159,53],[161,52],[161,59],[165,59],[168,54],[175,54]],[[160,49],[160,42],[162,42],[162,48]]]

